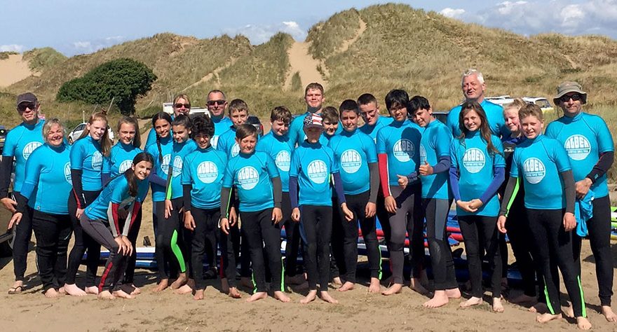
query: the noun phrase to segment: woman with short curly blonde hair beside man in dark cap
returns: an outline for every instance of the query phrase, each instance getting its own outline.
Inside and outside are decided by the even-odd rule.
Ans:
[[[43,294],[55,298],[65,293],[67,248],[72,230],[67,207],[72,189],[70,146],[65,144],[64,127],[57,118],[47,120],[42,132],[45,144],[29,155],[20,188],[23,200],[10,223],[19,225],[25,211],[30,209]]]

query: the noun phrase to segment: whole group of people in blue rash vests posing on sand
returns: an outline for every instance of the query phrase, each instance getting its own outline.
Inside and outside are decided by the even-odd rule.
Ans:
[[[285,284],[307,283],[301,303],[317,297],[337,303],[328,284],[338,291],[354,288],[360,233],[369,292],[400,293],[408,245],[411,288],[432,293],[425,307],[441,307],[461,298],[446,227],[454,201],[470,277],[470,298],[461,307],[482,303],[484,260],[492,309],[503,312],[508,261],[503,235],[508,233],[524,286],[522,296],[509,300],[534,305],[538,321],[559,318],[559,270],[571,301],[569,314],[579,328],[590,328],[580,263],[581,238],[588,235],[602,314],[617,321],[611,310],[606,185],[613,139],[602,118],[583,112],[587,93],[576,82],[560,84],[553,100],[564,114],[543,133],[539,106],[515,99],[502,109],[484,99],[480,71],[466,71],[461,88],[465,101],[441,123],[428,99],[410,98],[404,90],[388,92],[390,117],[384,117],[369,93],[336,109],[324,106],[323,86],[311,83],[304,94],[306,113],[294,118],[285,106],[273,108],[271,130],[263,137],[246,123],[249,107],[241,99],[228,104],[224,92],[212,90],[210,116],[191,118],[189,97],[178,95],[173,116],[161,112],[152,118],[143,151],[133,118],[121,118],[118,143],[111,146],[107,118],[100,113],[69,146],[60,121],[42,123],[36,97],[20,95],[17,108],[24,122],[8,133],[0,172],[1,202],[13,212],[9,227],[16,227],[10,292],[23,289],[27,242],[34,230],[45,296],[132,298],[140,293],[133,283],[135,241],[141,203],[151,187],[158,265],[154,291],[171,287],[203,299],[205,279],[217,275],[219,250],[222,290],[232,298],[240,298],[239,261],[240,282],[253,288],[248,301],[266,298],[269,289],[274,298],[289,302]],[[377,219],[392,274],[383,290]],[[72,233],[75,244],[67,257]],[[101,246],[110,254],[95,284]],[[81,289],[75,277],[86,251],[86,287]],[[300,253],[304,269],[297,263]]]

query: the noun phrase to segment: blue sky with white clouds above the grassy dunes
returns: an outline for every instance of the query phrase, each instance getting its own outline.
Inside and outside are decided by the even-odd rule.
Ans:
[[[91,53],[159,32],[197,38],[243,34],[254,44],[278,31],[299,41],[332,14],[391,1],[0,0],[0,51],[50,46]],[[518,34],[602,34],[617,39],[617,0],[398,1]]]

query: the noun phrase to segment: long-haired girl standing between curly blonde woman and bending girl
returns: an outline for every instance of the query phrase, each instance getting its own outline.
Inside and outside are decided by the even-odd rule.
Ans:
[[[67,267],[67,284],[65,291],[72,296],[84,296],[86,293],[97,294],[95,279],[101,246],[90,235],[83,233],[79,218],[100,194],[102,189],[103,158],[109,155],[111,140],[107,132],[107,116],[96,113],[90,116],[86,130],[75,141],[71,148],[71,179],[72,195],[69,195],[69,214],[75,234],[75,244],[69,254]],[[86,289],[80,289],[75,284],[77,269],[81,264],[83,254],[88,250],[86,260]]]

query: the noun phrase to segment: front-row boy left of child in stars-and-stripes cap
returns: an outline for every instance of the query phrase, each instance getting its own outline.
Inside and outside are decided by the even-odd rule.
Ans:
[[[280,210],[282,191],[276,164],[265,152],[256,152],[257,129],[252,125],[236,128],[236,141],[240,152],[231,158],[225,168],[221,190],[221,229],[229,234],[228,207],[231,202],[231,186],[236,186],[240,201],[243,240],[248,241],[253,269],[254,287],[247,302],[268,296],[266,289],[266,263],[272,275],[270,284],[273,296],[281,302],[289,302],[283,283],[283,261],[280,256]]]

